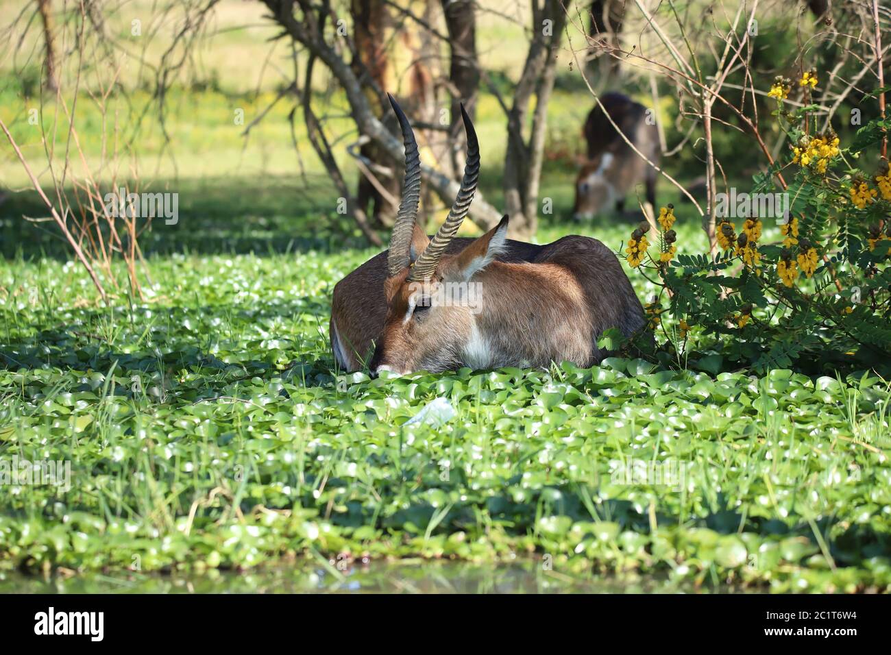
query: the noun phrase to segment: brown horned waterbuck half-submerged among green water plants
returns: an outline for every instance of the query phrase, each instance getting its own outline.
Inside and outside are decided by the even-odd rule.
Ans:
[[[405,183],[389,250],[334,287],[331,348],[342,368],[440,372],[461,366],[597,364],[609,328],[644,325],[616,255],[595,239],[547,245],[507,239],[508,217],[477,239],[456,237],[479,176],[479,147],[462,108],[467,160],[446,222],[429,239],[415,224],[421,160],[412,127],[390,97],[405,141]]]

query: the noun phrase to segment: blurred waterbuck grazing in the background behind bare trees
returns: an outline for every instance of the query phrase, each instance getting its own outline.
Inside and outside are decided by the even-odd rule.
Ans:
[[[647,109],[623,94],[604,94],[584,121],[587,157],[576,177],[576,220],[590,220],[612,204],[625,209],[625,194],[639,182],[646,186],[650,207],[656,207],[656,171],[625,143],[613,127],[634,143],[647,159],[659,162],[659,137],[646,120]],[[609,118],[607,118],[609,116]]]

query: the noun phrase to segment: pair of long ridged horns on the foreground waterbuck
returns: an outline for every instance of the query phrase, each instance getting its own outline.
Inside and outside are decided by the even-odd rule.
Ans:
[[[399,126],[402,127],[402,137],[405,143],[405,182],[403,183],[402,201],[399,203],[399,211],[396,214],[396,224],[393,225],[393,233],[390,237],[387,266],[390,275],[395,275],[405,267],[411,265],[410,249],[414,220],[418,214],[418,202],[421,200],[421,157],[418,154],[418,143],[414,139],[412,126],[405,116],[405,112],[399,104],[388,94]],[[446,222],[443,223],[429,245],[421,253],[421,257],[415,261],[412,272],[408,275],[411,282],[429,280],[437,269],[439,258],[446,251],[446,246],[458,233],[464,217],[470,212],[470,202],[477,192],[479,180],[479,143],[477,132],[473,128],[470,116],[461,105],[461,117],[464,121],[464,131],[467,134],[467,160],[464,164],[464,176],[461,188],[454,199],[452,209],[449,210]]]

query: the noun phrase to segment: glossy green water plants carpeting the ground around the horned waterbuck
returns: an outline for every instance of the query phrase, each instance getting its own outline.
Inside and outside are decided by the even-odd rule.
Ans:
[[[627,227],[584,231],[618,247]],[[0,568],[532,559],[708,588],[891,583],[874,377],[614,359],[370,380],[334,370],[327,317],[373,250],[215,247],[151,257],[151,299],[110,308],[70,262],[0,265],[0,453],[71,466],[67,492],[6,487]],[[437,398],[451,421],[406,425]]]

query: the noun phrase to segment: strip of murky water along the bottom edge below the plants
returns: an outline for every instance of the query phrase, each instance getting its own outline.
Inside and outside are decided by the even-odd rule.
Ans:
[[[24,594],[678,594],[727,593],[656,577],[584,577],[543,569],[540,562],[475,565],[374,562],[342,567],[323,561],[292,568],[203,574],[96,573],[70,577],[0,572],[0,593]]]

